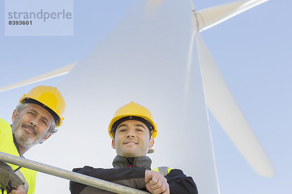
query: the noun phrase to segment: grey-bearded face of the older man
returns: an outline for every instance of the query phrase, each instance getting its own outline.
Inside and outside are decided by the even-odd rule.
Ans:
[[[48,139],[53,121],[52,114],[37,104],[28,104],[20,113],[15,110],[12,122],[18,146],[30,148]]]

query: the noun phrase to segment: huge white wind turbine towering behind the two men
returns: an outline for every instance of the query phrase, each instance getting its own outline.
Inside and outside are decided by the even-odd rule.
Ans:
[[[253,169],[273,176],[269,159],[199,33],[265,1],[238,0],[201,11],[187,0],[139,1],[77,65],[30,80],[70,71],[59,84],[68,107],[62,130],[70,131],[73,142],[67,142],[73,148],[68,154],[79,150],[79,157],[96,167],[110,167],[113,157],[81,153],[76,142],[84,138],[84,147],[109,145],[106,129],[112,114],[134,100],[149,108],[158,123],[156,151],[150,155],[153,166],[181,168],[194,178],[200,193],[219,193],[208,106]],[[68,136],[59,132],[56,139]],[[110,146],[98,149],[99,156],[109,153],[114,155]]]

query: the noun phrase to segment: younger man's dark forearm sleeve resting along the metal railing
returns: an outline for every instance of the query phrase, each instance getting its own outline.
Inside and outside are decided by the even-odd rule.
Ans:
[[[83,168],[74,168],[73,172],[81,173],[90,177],[99,178],[114,182],[120,185],[125,185],[128,187],[143,189],[145,188],[145,170],[144,167],[137,168],[92,168],[90,166],[84,166]],[[71,194],[83,194],[84,190],[90,190],[92,194],[101,194],[103,193],[100,189],[97,188],[88,188],[90,186],[80,184],[77,182],[70,181],[70,192]],[[91,194],[91,192],[86,192]],[[107,193],[107,192],[104,192]],[[107,194],[112,194],[108,192]]]

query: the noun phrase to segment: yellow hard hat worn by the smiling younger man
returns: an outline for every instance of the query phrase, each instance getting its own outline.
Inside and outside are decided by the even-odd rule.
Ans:
[[[152,138],[156,138],[157,125],[154,123],[154,119],[150,111],[146,107],[131,101],[130,103],[120,107],[114,113],[109,125],[109,135],[111,139],[114,139],[113,132],[118,125],[130,119],[143,122],[149,130],[152,130]]]

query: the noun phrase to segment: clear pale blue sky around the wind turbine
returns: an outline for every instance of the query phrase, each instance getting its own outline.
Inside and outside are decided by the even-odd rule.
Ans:
[[[196,10],[230,0],[194,0]],[[0,87],[79,61],[127,13],[134,0],[75,0],[73,36],[4,36],[0,14]],[[258,176],[210,114],[221,194],[289,194],[292,190],[292,67],[289,0],[270,0],[201,36],[275,168]],[[10,121],[18,98],[33,86],[0,93],[0,117]],[[45,192],[44,192],[45,193]],[[69,192],[68,192],[69,193]]]

